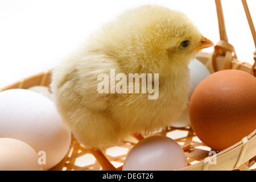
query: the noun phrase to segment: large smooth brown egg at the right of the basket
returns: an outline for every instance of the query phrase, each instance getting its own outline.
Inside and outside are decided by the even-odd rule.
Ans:
[[[212,150],[239,142],[256,129],[256,77],[232,69],[206,77],[192,94],[189,118]]]

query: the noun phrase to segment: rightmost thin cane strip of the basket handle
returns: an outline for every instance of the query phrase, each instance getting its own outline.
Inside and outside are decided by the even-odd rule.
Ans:
[[[246,18],[248,20],[249,27],[250,27],[250,30],[251,30],[251,34],[253,35],[255,48],[256,48],[256,31],[255,31],[255,28],[254,28],[254,25],[253,25],[253,20],[251,19],[250,11],[249,11],[246,0],[242,0],[242,4],[243,4],[243,9],[245,9]],[[254,52],[253,59],[254,59],[254,64],[253,64],[253,67],[251,67],[251,74],[256,76],[256,51]]]

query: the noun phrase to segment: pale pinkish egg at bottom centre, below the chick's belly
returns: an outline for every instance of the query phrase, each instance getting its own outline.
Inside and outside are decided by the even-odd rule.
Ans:
[[[123,171],[168,171],[187,166],[182,148],[163,135],[144,138],[130,150]]]

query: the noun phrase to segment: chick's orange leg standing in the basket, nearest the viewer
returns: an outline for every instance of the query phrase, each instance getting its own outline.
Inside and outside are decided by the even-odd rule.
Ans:
[[[98,148],[90,148],[89,151],[96,158],[104,171],[115,171],[116,168],[109,162],[103,152]]]

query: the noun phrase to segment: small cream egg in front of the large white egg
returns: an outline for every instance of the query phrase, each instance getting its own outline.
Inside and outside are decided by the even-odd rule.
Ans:
[[[0,138],[0,171],[42,171],[38,154],[27,143]]]

